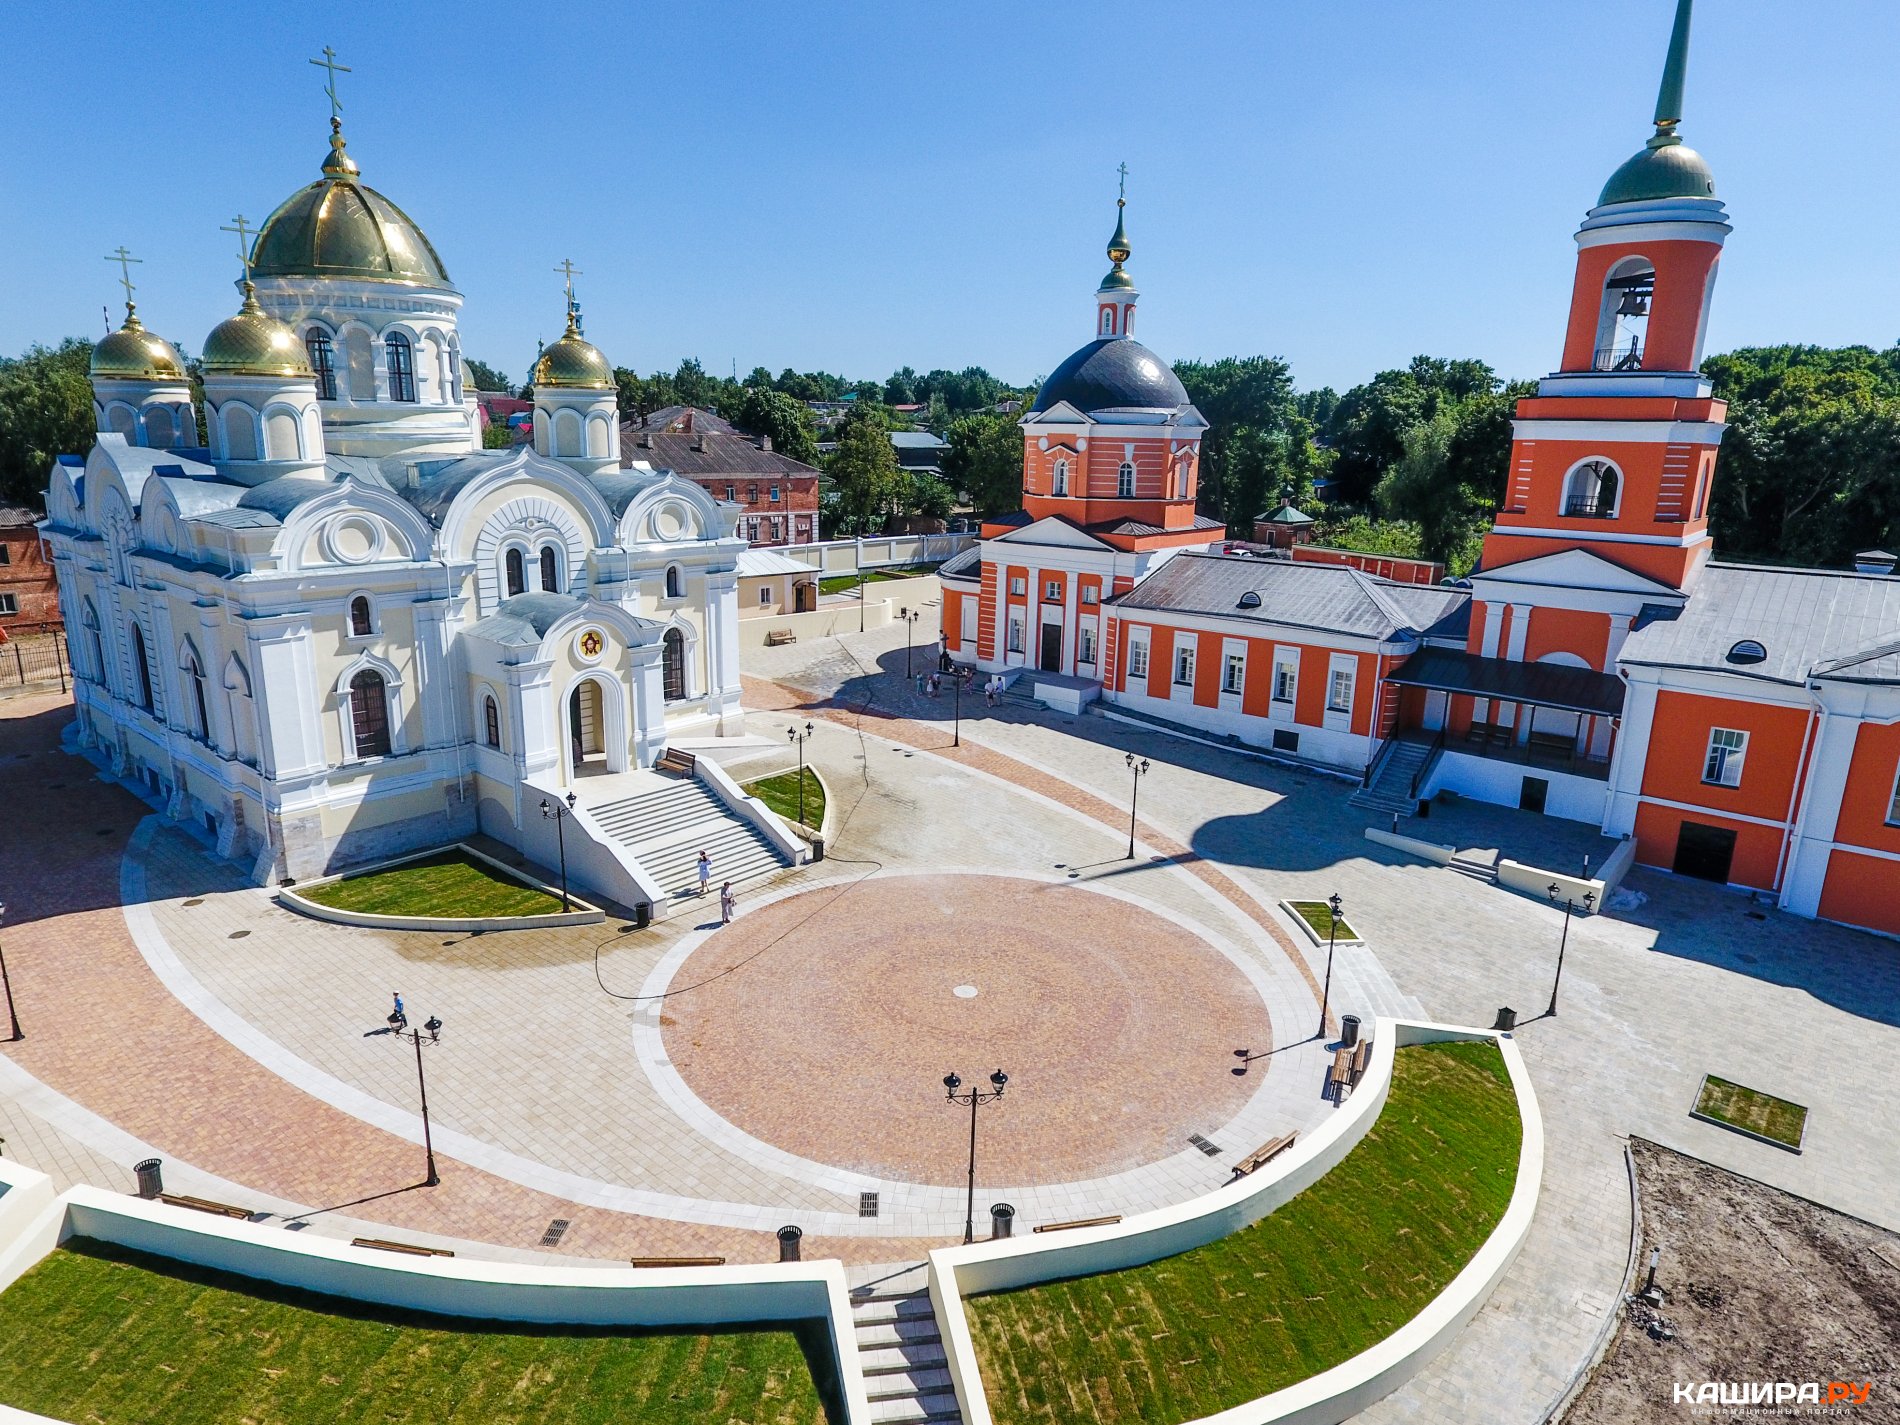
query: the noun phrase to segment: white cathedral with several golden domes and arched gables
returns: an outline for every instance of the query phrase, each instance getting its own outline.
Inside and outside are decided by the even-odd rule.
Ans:
[[[205,338],[209,450],[127,283],[42,526],[82,747],[258,884],[524,846],[547,792],[743,732],[735,507],[621,469],[572,296],[532,448],[484,450],[462,294],[331,129]]]

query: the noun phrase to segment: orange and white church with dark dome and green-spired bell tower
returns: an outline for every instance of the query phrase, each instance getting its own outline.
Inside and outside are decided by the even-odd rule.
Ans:
[[[1351,773],[1358,806],[1454,790],[1586,821],[1645,864],[1900,935],[1894,557],[1714,559],[1727,412],[1699,367],[1729,218],[1676,133],[1689,10],[1655,133],[1577,228],[1558,369],[1518,403],[1469,580],[1216,549],[1206,422],[1129,334],[1117,222],[1094,338],[1022,420],[1024,509],[942,570],[950,656]]]

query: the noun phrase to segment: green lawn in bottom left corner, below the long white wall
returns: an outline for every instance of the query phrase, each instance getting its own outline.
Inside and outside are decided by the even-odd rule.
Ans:
[[[68,1239],[0,1294],[0,1400],[99,1425],[819,1425],[821,1328],[483,1328]]]

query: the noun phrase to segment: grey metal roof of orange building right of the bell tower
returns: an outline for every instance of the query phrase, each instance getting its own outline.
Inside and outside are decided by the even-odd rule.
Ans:
[[[1731,659],[1758,642],[1765,659]],[[1619,663],[1805,684],[1900,682],[1900,578],[1851,570],[1710,564],[1680,618],[1630,633]]]

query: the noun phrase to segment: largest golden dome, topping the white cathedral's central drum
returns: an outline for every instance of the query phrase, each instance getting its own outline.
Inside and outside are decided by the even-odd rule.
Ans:
[[[251,255],[253,276],[450,287],[422,228],[357,177],[342,133],[332,133],[323,177],[291,194],[264,220]]]

